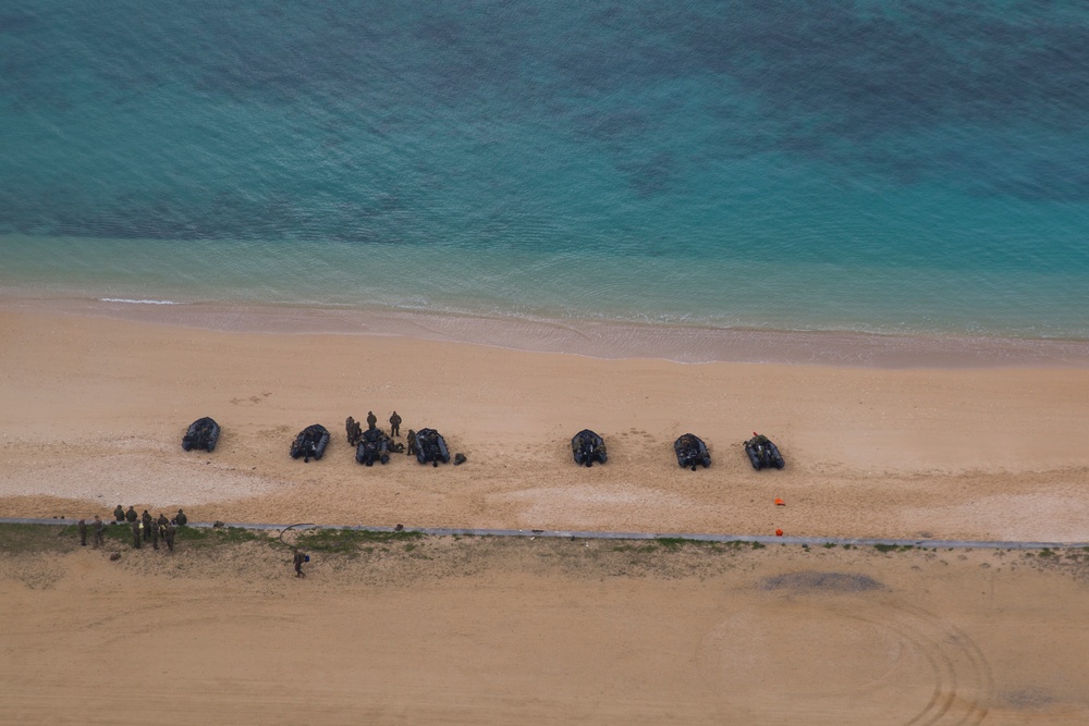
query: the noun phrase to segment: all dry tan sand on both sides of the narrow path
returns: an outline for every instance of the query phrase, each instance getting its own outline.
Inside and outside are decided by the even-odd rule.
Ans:
[[[1085,365],[684,365],[9,307],[0,370],[5,517],[1089,540]],[[468,462],[355,464],[345,417],[393,409]],[[212,455],[180,446],[201,416]],[[315,422],[326,457],[292,460]],[[608,465],[571,460],[582,428]],[[751,469],[752,430],[784,471]],[[676,466],[687,431],[711,468]],[[1080,553],[617,546],[439,538],[302,581],[260,545],[5,558],[0,718],[143,719],[111,711],[132,698],[224,723],[1089,719]]]

